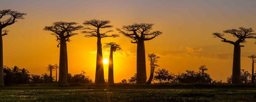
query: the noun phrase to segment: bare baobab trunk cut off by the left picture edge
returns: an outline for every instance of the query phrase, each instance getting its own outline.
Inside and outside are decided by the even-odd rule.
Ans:
[[[0,87],[4,86],[3,79],[3,38],[2,38],[2,29],[0,29]]]

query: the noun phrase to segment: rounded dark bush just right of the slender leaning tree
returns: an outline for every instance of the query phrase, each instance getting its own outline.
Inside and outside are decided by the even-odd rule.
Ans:
[[[173,79],[172,74],[169,74],[169,71],[164,68],[158,69],[155,73],[154,80],[159,83],[164,83]]]

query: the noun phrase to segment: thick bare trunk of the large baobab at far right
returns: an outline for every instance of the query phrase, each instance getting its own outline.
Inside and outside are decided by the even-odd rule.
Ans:
[[[239,43],[238,44],[234,44],[232,84],[239,84],[239,83],[241,83],[240,54],[241,54],[240,44]]]

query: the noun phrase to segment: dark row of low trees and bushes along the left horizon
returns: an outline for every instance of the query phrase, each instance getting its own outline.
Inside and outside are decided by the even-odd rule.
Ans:
[[[51,68],[51,66],[47,67],[47,70]],[[51,73],[35,75],[31,74],[27,69],[20,69],[17,66],[7,67],[3,66],[3,75],[4,75],[4,83],[5,85],[11,84],[41,84],[41,83],[56,83],[56,77],[52,77]],[[82,83],[82,84],[90,84],[93,83],[93,80],[84,74],[68,74],[68,82],[69,83]]]

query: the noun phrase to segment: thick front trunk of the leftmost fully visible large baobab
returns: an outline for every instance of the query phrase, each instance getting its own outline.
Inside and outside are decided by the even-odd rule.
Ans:
[[[59,87],[69,86],[67,82],[66,62],[65,62],[65,38],[60,38],[60,56],[59,56]]]

